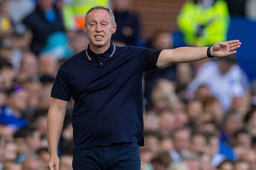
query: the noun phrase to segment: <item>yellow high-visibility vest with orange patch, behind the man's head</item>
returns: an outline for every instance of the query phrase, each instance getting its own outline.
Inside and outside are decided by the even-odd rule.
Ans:
[[[63,8],[64,24],[66,29],[84,28],[86,12],[93,6],[108,7],[109,0],[73,0]]]

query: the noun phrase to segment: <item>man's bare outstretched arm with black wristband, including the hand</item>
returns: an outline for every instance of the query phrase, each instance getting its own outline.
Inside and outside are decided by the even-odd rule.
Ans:
[[[241,42],[232,40],[226,42],[217,42],[210,48],[213,57],[225,57],[236,53]],[[207,59],[208,47],[180,47],[170,50],[161,51],[157,59],[157,67],[164,68],[173,63],[179,62],[194,62],[201,59]]]

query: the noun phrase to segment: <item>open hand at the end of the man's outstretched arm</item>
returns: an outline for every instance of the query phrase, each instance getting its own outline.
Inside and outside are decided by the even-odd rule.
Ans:
[[[236,49],[240,48],[239,40],[231,40],[226,42],[217,42],[211,48],[213,57],[225,57],[231,54],[236,54]]]

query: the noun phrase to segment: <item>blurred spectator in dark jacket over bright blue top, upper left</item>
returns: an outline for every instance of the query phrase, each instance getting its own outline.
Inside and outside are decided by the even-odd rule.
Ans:
[[[23,19],[23,24],[32,31],[30,48],[36,55],[44,48],[51,34],[64,31],[61,11],[54,6],[54,0],[38,0],[35,10]]]

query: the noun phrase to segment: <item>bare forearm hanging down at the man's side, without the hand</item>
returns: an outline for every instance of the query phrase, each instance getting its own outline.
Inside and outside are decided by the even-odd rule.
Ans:
[[[57,155],[58,141],[61,136],[64,117],[64,109],[59,109],[58,107],[51,105],[47,118],[47,136],[50,154]]]

